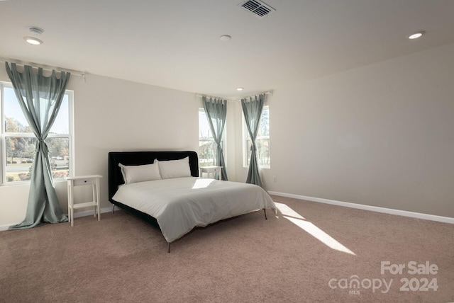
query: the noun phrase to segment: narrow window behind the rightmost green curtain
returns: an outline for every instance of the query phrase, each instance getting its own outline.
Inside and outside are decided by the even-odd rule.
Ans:
[[[252,141],[249,136],[248,127],[243,116],[243,166],[248,167],[250,164],[250,147]],[[255,145],[258,151],[258,166],[270,168],[270,107],[264,106],[258,128]]]

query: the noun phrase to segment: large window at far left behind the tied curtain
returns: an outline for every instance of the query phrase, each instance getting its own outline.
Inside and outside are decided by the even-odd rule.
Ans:
[[[22,113],[9,83],[1,88],[1,172],[3,184],[26,182],[31,177],[35,157],[35,135]],[[66,91],[48,137],[53,178],[72,176],[72,91]]]

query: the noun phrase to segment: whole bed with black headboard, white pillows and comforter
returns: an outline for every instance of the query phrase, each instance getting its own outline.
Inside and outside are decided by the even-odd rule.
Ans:
[[[266,210],[277,212],[257,185],[199,178],[195,151],[109,152],[109,201],[160,229],[170,244],[194,227]]]

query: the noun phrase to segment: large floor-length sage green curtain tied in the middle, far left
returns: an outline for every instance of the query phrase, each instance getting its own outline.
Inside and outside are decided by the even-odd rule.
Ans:
[[[70,73],[61,72],[60,79],[57,79],[55,71],[51,76],[43,76],[42,68],[35,74],[30,66],[18,72],[16,64],[11,63],[11,68],[8,62],[5,65],[18,103],[37,139],[26,218],[9,229],[31,228],[42,222],[67,222],[55,193],[49,150],[44,140],[60,110]]]

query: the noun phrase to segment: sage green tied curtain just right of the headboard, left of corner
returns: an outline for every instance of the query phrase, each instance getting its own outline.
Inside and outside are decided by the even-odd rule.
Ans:
[[[226,125],[227,101],[216,98],[210,98],[207,100],[205,96],[201,97],[201,101],[204,103],[206,119],[210,125],[214,142],[216,143],[216,162],[214,165],[223,166],[223,169],[221,170],[221,178],[222,180],[227,181],[226,163],[224,161],[221,146],[222,132],[224,130],[224,126]]]

